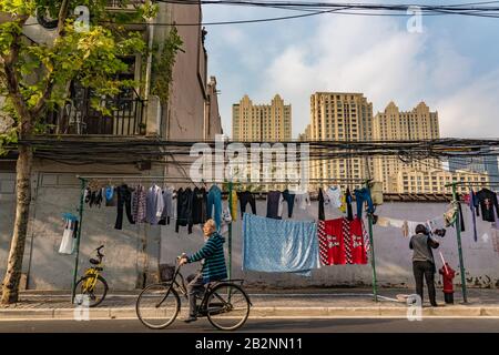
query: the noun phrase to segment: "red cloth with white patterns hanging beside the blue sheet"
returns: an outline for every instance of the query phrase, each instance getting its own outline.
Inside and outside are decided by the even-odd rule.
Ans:
[[[323,265],[366,264],[366,233],[361,220],[319,221],[317,226]]]

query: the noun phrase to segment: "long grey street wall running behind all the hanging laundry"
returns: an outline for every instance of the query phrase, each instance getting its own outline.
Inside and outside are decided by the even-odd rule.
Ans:
[[[159,172],[147,172],[159,174]],[[33,178],[33,204],[31,223],[27,241],[23,273],[28,274],[28,287],[37,290],[69,290],[71,286],[74,256],[60,255],[58,248],[62,237],[62,219],[64,212],[77,213],[79,204],[79,182],[74,172],[58,173],[45,171],[35,173]],[[13,223],[13,174],[1,174],[2,193],[0,194],[0,274],[3,276],[9,251],[9,241]],[[145,183],[145,182],[144,182]],[[147,183],[145,183],[147,184]],[[170,184],[169,184],[170,185]],[[175,184],[180,187],[184,184]],[[354,205],[355,207],[355,205]],[[386,203],[379,206],[377,213],[383,216],[425,221],[445,212],[445,203]],[[285,209],[286,211],[286,209]],[[257,213],[265,215],[265,201],[257,202]],[[467,230],[462,233],[462,248],[467,270],[467,283],[477,287],[499,286],[499,254],[492,245],[490,223],[478,223],[478,242],[472,240],[471,217],[465,207]],[[296,210],[294,220],[315,220],[317,204],[307,211]],[[329,214],[328,219],[337,217]],[[173,262],[182,252],[191,253],[203,244],[200,226],[189,235],[186,229],[174,232],[174,223],[167,226],[130,225],[126,219],[123,230],[114,230],[115,207],[101,209],[85,206],[81,240],[80,272],[88,266],[88,258],[93,256],[93,248],[105,244],[104,276],[113,290],[134,290],[138,278],[144,272],[150,281],[154,281],[157,262]],[[338,265],[322,267],[313,272],[313,276],[301,277],[288,274],[243,272],[241,219],[234,223],[233,234],[233,272],[234,277],[243,277],[249,284],[268,285],[273,287],[291,286],[359,286],[370,285],[370,265]],[[488,237],[483,239],[487,235]],[[272,236],[269,236],[272,237]],[[375,226],[375,252],[378,281],[381,286],[413,287],[411,252],[408,239],[400,230]],[[141,252],[142,241],[146,241],[146,253]],[[439,248],[450,265],[458,270],[458,252],[456,232],[447,230]],[[435,254],[437,266],[441,266],[438,253]],[[146,257],[144,261],[143,257]],[[189,265],[185,274],[192,273],[198,265]],[[460,278],[457,276],[456,282]]]

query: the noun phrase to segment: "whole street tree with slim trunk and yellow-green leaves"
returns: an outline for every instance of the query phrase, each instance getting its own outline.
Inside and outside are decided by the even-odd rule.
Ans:
[[[27,237],[33,151],[22,140],[43,131],[45,113],[64,104],[71,81],[79,81],[96,95],[114,95],[132,85],[131,81],[118,79],[116,74],[126,70],[120,58],[145,50],[142,34],[128,31],[122,24],[153,17],[154,7],[140,6],[133,13],[124,14],[105,11],[106,2],[0,0],[0,14],[7,16],[7,21],[0,23],[0,95],[6,98],[1,111],[11,122],[0,131],[0,153],[12,143],[18,150],[17,207],[2,304],[18,301]],[[120,1],[122,6],[126,2]],[[81,26],[85,23],[74,14],[79,6],[89,10],[89,28]],[[23,34],[23,27],[37,16],[37,10],[39,18],[42,13],[42,18],[53,19],[55,39],[50,43],[32,43]],[[106,110],[98,103],[95,109]]]

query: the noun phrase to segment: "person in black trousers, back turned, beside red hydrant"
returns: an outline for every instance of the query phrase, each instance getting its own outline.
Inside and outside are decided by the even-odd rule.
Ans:
[[[413,272],[416,280],[416,293],[421,297],[422,305],[422,277],[426,278],[428,286],[428,295],[431,306],[436,307],[436,292],[435,292],[435,267],[434,253],[431,248],[437,248],[439,243],[429,236],[428,230],[425,225],[418,224],[416,226],[416,235],[410,239],[409,247],[413,253]]]

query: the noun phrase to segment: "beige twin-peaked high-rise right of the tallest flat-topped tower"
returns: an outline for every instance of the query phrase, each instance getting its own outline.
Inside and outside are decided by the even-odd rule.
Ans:
[[[384,112],[375,115],[373,138],[376,141],[439,139],[438,112],[431,112],[425,102],[420,102],[411,111],[399,111],[397,105],[390,102]],[[397,174],[401,170],[421,172],[441,169],[441,162],[437,159],[403,161],[400,158],[374,158],[374,176],[383,182],[385,192],[400,192]]]

